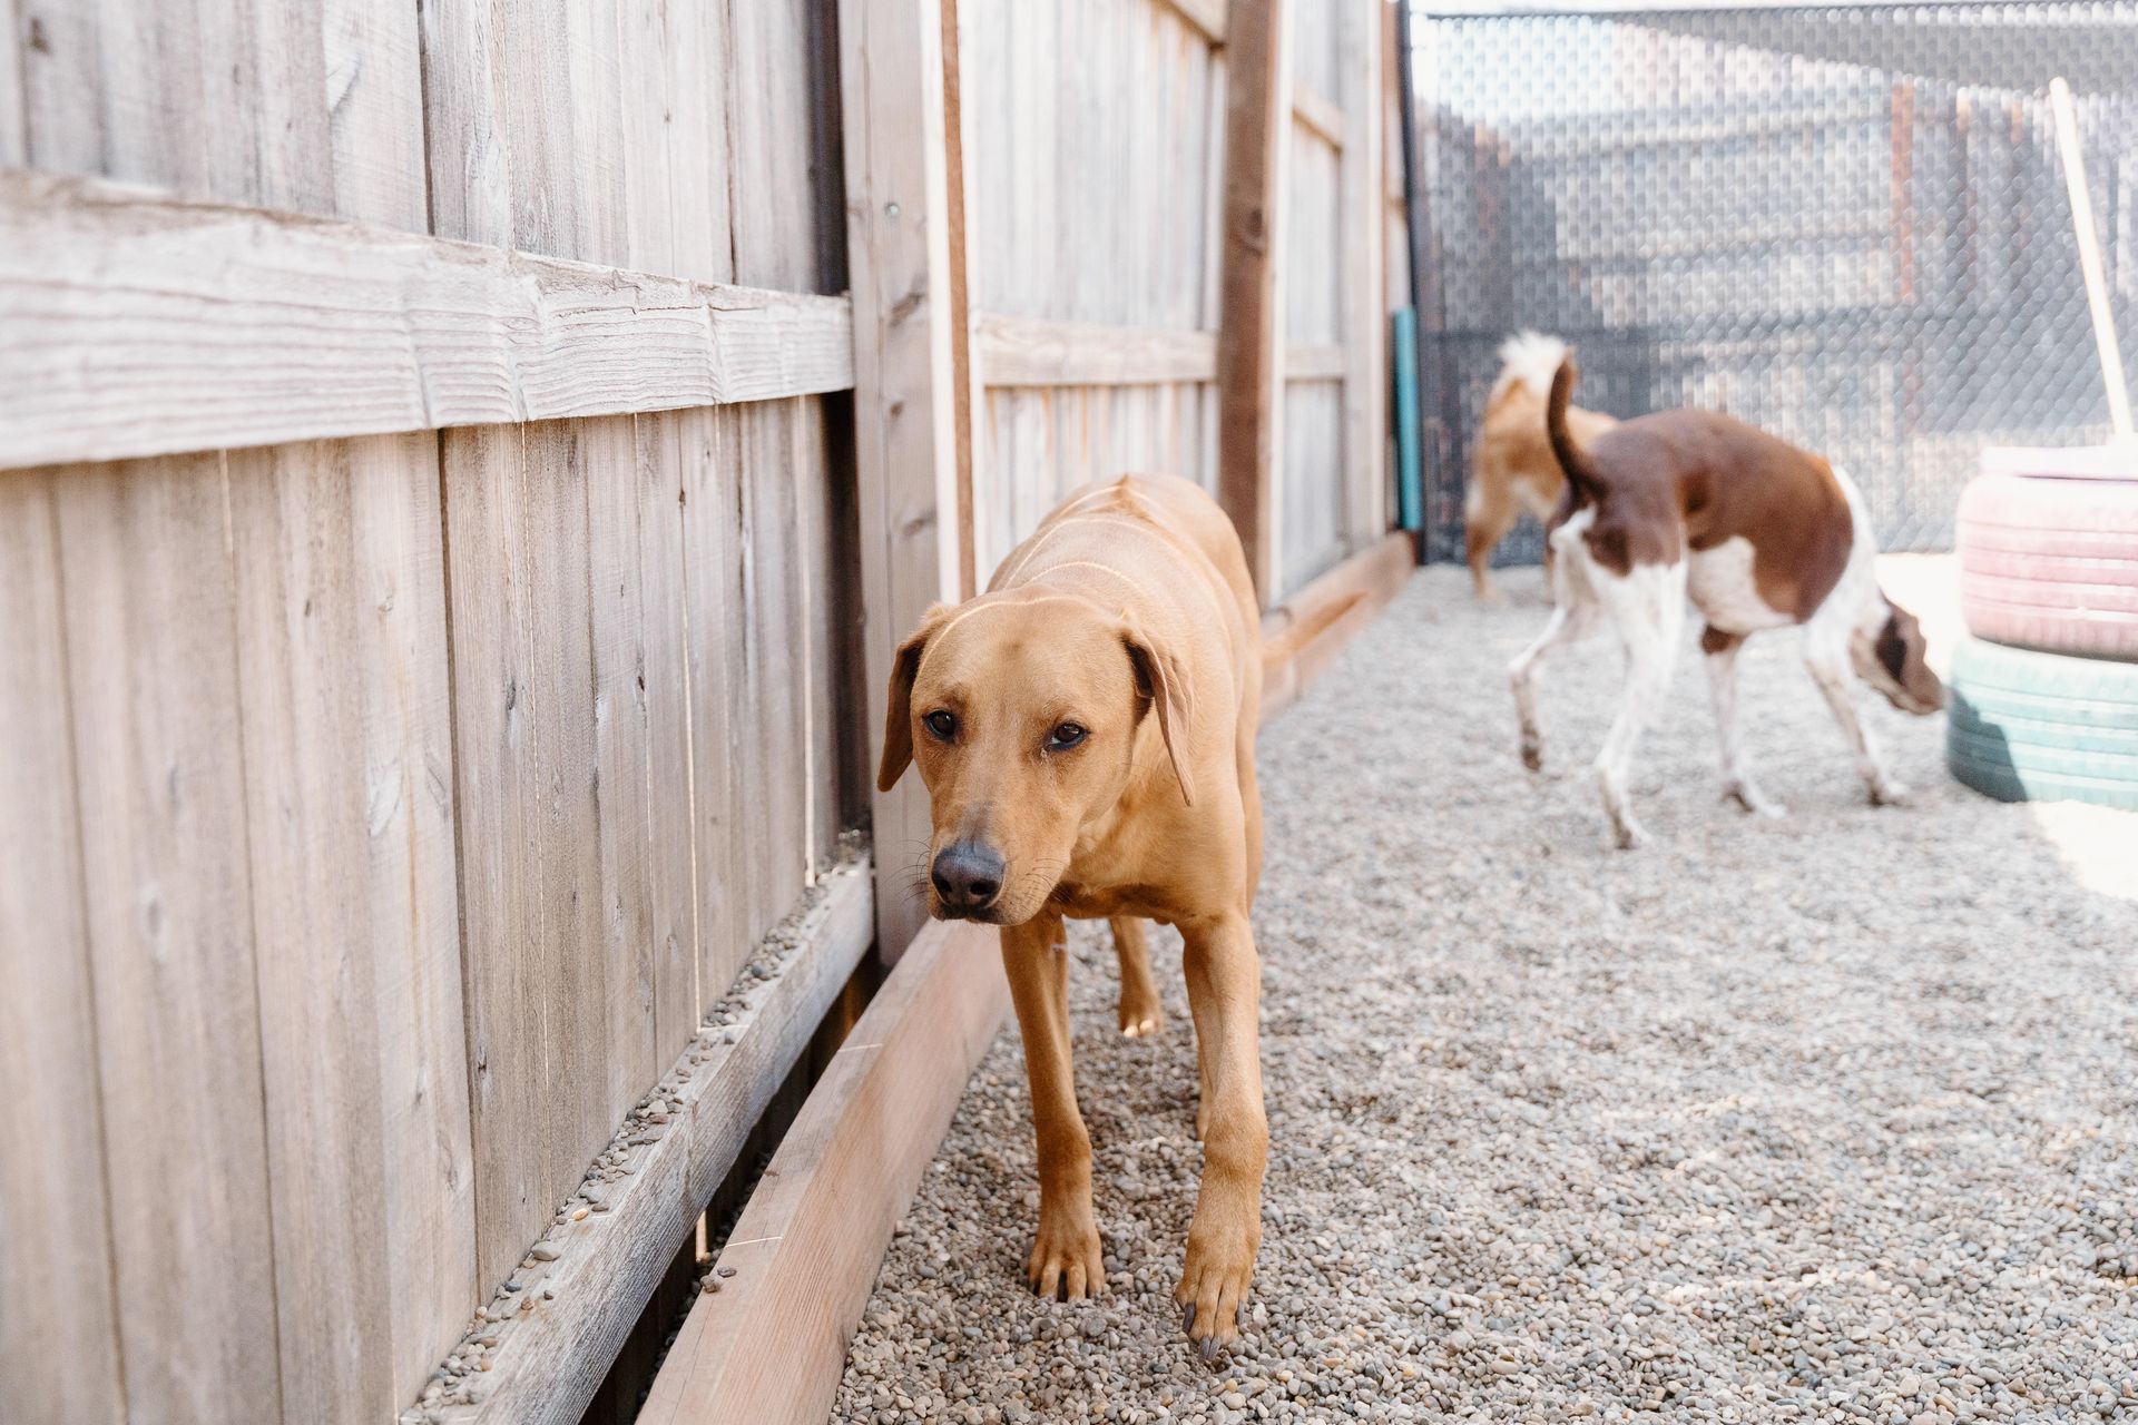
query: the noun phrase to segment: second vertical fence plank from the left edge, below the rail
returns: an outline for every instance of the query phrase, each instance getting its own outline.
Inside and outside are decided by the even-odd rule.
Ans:
[[[218,1421],[280,1393],[224,483],[56,498],[126,1406]]]

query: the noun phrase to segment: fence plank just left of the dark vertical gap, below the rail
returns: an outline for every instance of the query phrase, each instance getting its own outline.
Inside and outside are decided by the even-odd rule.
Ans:
[[[378,1419],[475,1301],[436,440],[227,470],[282,1399]]]

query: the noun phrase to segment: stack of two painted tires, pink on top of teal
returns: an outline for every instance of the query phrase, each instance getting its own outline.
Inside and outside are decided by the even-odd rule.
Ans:
[[[1999,801],[2138,810],[2138,455],[1993,451],[1961,496],[1946,765]]]

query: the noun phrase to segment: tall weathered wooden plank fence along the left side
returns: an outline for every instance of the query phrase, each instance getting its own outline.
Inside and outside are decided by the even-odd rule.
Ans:
[[[1379,547],[1379,9],[11,11],[0,1412],[577,1419],[917,927],[919,611],[1122,468]]]

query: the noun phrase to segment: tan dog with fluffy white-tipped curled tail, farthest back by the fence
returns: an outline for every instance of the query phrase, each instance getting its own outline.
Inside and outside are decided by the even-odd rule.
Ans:
[[[1492,588],[1492,549],[1507,538],[1514,521],[1529,511],[1550,523],[1567,476],[1544,432],[1544,402],[1552,393],[1552,372],[1567,359],[1567,344],[1554,335],[1518,331],[1501,342],[1499,378],[1484,402],[1484,425],[1471,453],[1471,487],[1462,500],[1462,541],[1477,598],[1499,600]],[[1571,406],[1567,427],[1589,444],[1616,421]]]

